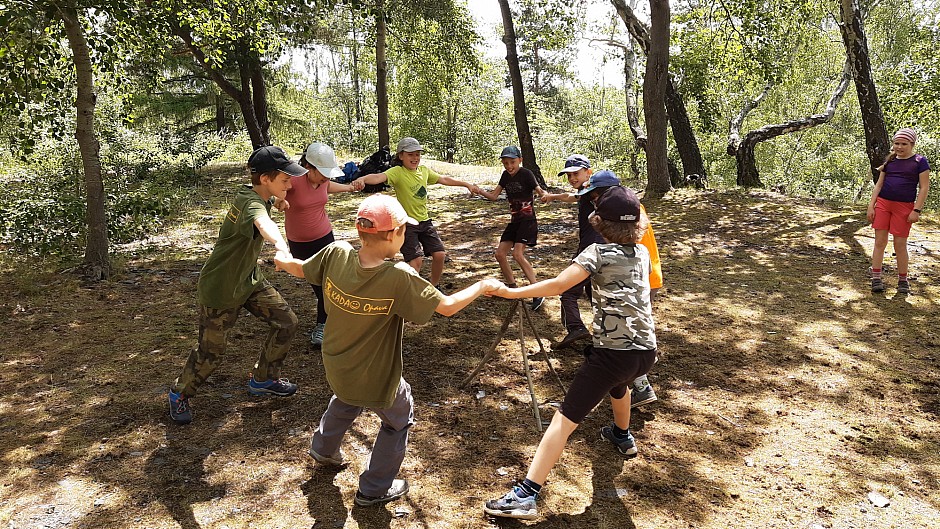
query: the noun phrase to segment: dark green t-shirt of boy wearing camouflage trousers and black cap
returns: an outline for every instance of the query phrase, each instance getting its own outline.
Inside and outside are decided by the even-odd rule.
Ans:
[[[239,188],[199,274],[200,304],[213,309],[240,307],[264,281],[258,266],[264,237],[255,227],[255,219],[262,216],[271,216],[271,204],[251,187]]]

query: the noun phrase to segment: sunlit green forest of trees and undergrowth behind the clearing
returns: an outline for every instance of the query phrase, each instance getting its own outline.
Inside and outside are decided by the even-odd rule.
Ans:
[[[637,109],[654,96],[663,108],[658,90],[644,98],[649,42],[635,31],[649,31],[650,6],[521,0],[473,11],[501,4],[518,50],[515,104],[507,61],[493,53],[506,50],[494,42],[503,27],[481,26],[460,0],[7,1],[0,243],[52,263],[84,252],[93,275],[106,277],[114,245],[158,229],[198,194],[207,165],[243,163],[253,145],[299,153],[323,141],[361,160],[407,135],[430,158],[492,166],[503,146],[520,143],[520,101],[531,161],[549,185],[564,184],[553,175],[579,152],[646,187],[651,158],[637,117],[650,118]],[[885,134],[903,126],[919,132],[919,152],[940,159],[937,2],[667,7],[665,106],[670,121],[681,113],[688,124],[678,141],[675,125],[662,133],[672,186],[706,178],[719,189],[865,200]],[[851,13],[864,32],[867,81],[863,63],[846,69]],[[578,59],[585,46],[598,64]],[[856,90],[846,90],[850,79]],[[753,169],[742,180],[749,132]],[[683,153],[690,146],[694,164]]]

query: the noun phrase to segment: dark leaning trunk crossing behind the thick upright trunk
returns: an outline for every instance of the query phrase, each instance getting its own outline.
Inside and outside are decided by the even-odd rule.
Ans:
[[[623,0],[612,0],[612,3],[617,9],[617,13],[620,15],[623,23],[627,26],[630,35],[640,44],[643,51],[649,55],[649,30],[640,22],[640,19],[637,18],[633,9]],[[705,174],[705,163],[702,161],[702,151],[699,149],[698,140],[695,138],[695,130],[692,128],[692,121],[689,119],[689,113],[685,108],[682,95],[676,90],[675,84],[673,84],[672,78],[668,76],[668,73],[665,92],[665,105],[668,111],[669,122],[672,126],[672,136],[676,141],[679,158],[682,160],[682,171],[687,179],[694,179],[695,177],[693,175],[701,175],[701,180],[704,181],[707,175]]]

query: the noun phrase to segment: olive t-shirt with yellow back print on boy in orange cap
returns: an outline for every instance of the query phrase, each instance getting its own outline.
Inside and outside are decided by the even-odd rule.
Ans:
[[[304,263],[323,287],[323,369],[336,396],[353,406],[388,408],[401,380],[405,321],[427,323],[444,298],[405,263],[359,264],[349,243],[330,244]]]

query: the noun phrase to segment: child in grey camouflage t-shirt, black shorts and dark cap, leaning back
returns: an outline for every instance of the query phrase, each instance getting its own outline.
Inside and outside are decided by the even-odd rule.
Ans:
[[[629,389],[633,380],[646,374],[656,361],[650,257],[638,244],[646,222],[640,214],[640,200],[625,187],[612,187],[604,193],[597,200],[590,222],[607,243],[588,246],[554,279],[488,293],[511,299],[554,296],[590,278],[594,311],[594,342],[586,351],[587,358],[542,436],[525,480],[484,505],[483,510],[492,516],[537,516],[535,500],[568,437],[605,395],[610,396],[614,424],[601,429],[601,438],[613,443],[628,459],[637,455],[629,430]]]

